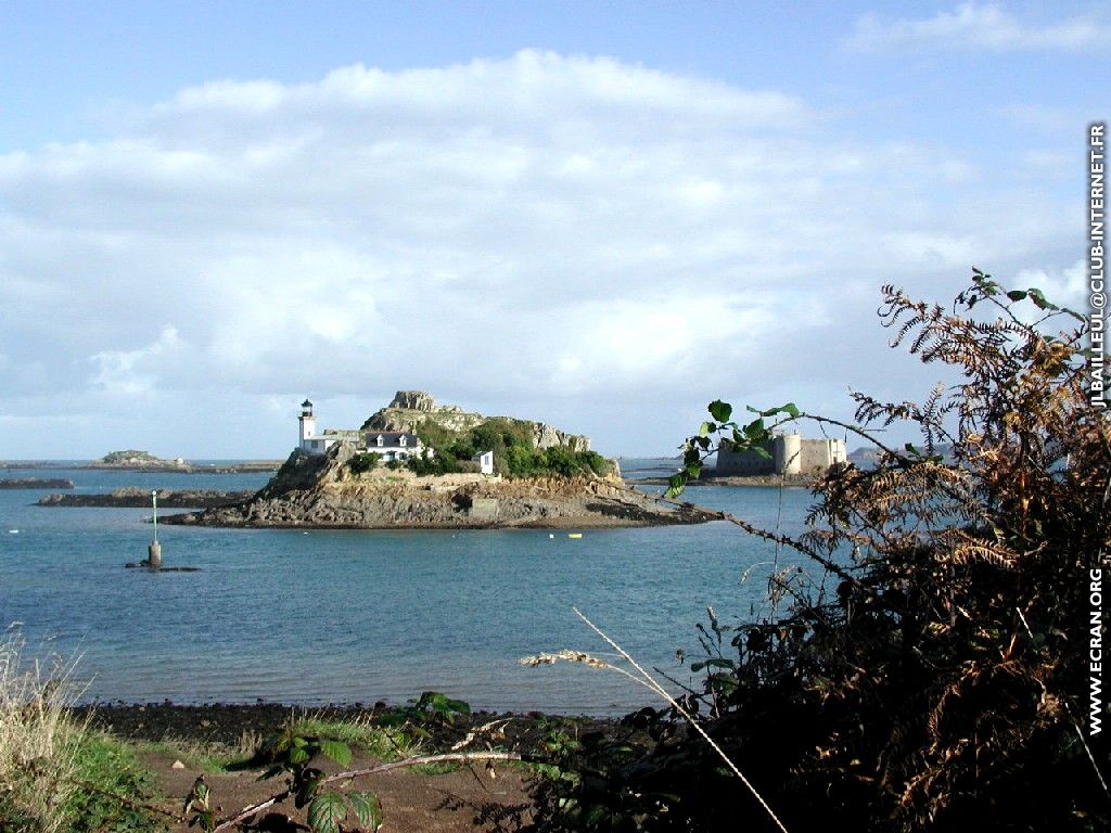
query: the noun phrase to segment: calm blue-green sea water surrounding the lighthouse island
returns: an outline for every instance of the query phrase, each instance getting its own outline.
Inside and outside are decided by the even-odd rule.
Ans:
[[[667,465],[622,461],[627,476]],[[268,479],[68,469],[0,476],[70,478],[78,492],[254,489]],[[90,701],[403,703],[434,689],[473,707],[624,712],[657,703],[611,671],[530,669],[518,659],[562,648],[610,659],[577,606],[642,664],[687,681],[675,651],[698,653],[705,608],[725,621],[749,615],[774,556],[724,522],[587,530],[578,540],[539,530],[160,525],[163,562],[200,571],[151,574],[123,568],[147,555],[150,510],[32,505],[40,494],[0,491],[0,628],[21,623],[31,654],[79,655]],[[810,503],[801,489],[700,486],[687,496],[765,526],[782,515],[785,531],[801,529]]]

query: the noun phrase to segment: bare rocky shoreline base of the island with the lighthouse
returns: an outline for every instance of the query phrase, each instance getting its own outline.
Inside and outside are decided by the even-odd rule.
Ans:
[[[661,504],[619,479],[480,474],[418,478],[406,470],[354,474],[354,455],[340,442],[327,454],[294,451],[251,500],[166,523],[206,526],[353,529],[590,529],[701,523],[714,515],[690,504]]]

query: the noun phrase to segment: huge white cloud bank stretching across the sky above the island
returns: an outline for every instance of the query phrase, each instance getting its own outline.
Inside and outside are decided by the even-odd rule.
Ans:
[[[306,394],[333,424],[424,388],[667,448],[691,401],[865,385],[880,283],[1055,262],[1052,209],[800,98],[604,58],[216,81],[0,157],[0,421],[281,456]]]

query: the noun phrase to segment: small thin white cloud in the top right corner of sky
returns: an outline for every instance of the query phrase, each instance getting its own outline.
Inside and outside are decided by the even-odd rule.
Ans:
[[[850,47],[859,50],[987,49],[1083,50],[1103,49],[1111,27],[1094,16],[1073,17],[1048,24],[1025,23],[997,3],[960,3],[932,18],[883,20],[861,17]]]

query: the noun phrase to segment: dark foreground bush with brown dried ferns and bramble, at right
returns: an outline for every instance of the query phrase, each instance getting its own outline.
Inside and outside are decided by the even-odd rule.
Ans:
[[[710,405],[673,493],[721,439],[798,420],[861,438],[875,468],[831,470],[802,535],[729,519],[774,546],[767,608],[710,611],[701,682],[635,715],[653,743],[561,750],[534,830],[1111,827],[1111,715],[1089,697],[1111,421],[1085,398],[1085,320],[979,271],[948,309],[885,287],[880,314],[961,381],[922,403],[857,393],[855,425]],[[920,441],[887,444],[894,425]]]

